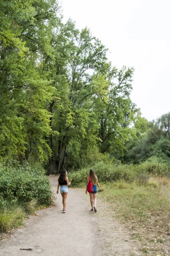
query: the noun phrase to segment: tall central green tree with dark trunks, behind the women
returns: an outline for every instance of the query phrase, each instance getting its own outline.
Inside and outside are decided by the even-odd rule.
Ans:
[[[57,172],[68,165],[69,157],[77,158],[79,162],[81,140],[86,137],[93,116],[91,97],[97,97],[108,87],[102,76],[99,79],[90,75],[90,72],[97,72],[105,63],[107,49],[101,42],[87,28],[79,32],[71,20],[68,20],[61,33],[66,36],[63,42],[65,54],[62,56],[67,70],[65,74],[57,74],[60,81],[55,84],[61,99],[60,103],[54,105],[52,125],[53,131],[59,134],[55,135],[53,150]],[[56,68],[61,71],[59,64]]]

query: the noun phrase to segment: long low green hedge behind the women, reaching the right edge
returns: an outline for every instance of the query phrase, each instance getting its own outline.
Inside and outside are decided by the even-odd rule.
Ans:
[[[113,162],[98,161],[94,163],[93,166],[89,166],[88,168],[76,172],[70,172],[68,177],[72,178],[71,186],[84,186],[87,182],[87,177],[91,168],[94,169],[96,176],[101,183],[113,182],[117,180],[132,182],[136,180],[137,176],[144,177],[144,175],[169,175],[168,166],[166,163],[144,162],[139,165],[115,165]],[[142,178],[139,180],[139,182],[142,182]]]

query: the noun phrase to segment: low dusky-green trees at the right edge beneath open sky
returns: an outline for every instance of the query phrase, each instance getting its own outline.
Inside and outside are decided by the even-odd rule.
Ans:
[[[145,121],[143,133],[140,130],[140,133],[136,133],[137,137],[131,137],[127,143],[125,161],[140,163],[150,157],[156,157],[156,161],[170,162],[169,118],[170,113],[167,113],[156,121]],[[139,122],[135,124],[135,128],[139,130]]]

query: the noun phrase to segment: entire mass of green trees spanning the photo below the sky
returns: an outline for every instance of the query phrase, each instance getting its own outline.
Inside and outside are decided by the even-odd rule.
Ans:
[[[89,152],[123,163],[170,157],[170,113],[153,122],[86,27],[62,23],[56,0],[0,1],[0,161],[79,169]]]

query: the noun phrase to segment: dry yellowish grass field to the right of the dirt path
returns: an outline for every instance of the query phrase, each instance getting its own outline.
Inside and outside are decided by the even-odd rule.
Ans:
[[[141,241],[141,251],[145,255],[144,248],[150,253],[148,255],[169,255],[170,179],[144,177],[143,180],[105,184],[99,197],[110,203],[113,216],[131,230],[132,239]]]

